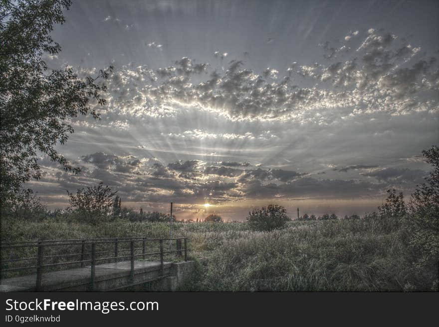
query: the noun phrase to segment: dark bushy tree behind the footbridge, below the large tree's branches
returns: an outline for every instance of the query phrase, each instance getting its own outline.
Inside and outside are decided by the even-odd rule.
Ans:
[[[102,182],[98,186],[78,189],[76,195],[67,191],[70,209],[76,214],[76,218],[92,225],[112,217],[113,196],[116,193]]]

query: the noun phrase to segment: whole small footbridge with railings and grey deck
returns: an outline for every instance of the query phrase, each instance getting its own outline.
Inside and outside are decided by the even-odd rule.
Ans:
[[[194,267],[184,237],[13,242],[0,250],[0,292],[175,290]]]

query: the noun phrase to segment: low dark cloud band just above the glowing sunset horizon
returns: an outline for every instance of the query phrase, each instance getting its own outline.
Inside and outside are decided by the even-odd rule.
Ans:
[[[157,158],[104,152],[85,155],[80,163],[83,171],[77,176],[66,174],[57,166],[43,166],[47,186],[45,190],[43,186],[38,190],[50,196],[57,194],[53,190],[72,192],[102,181],[118,191],[124,201],[134,202],[194,204],[203,203],[205,199],[213,203],[289,198],[354,199],[384,194],[387,188],[394,186],[407,189],[422,182],[426,175],[415,169],[351,165],[338,170],[361,170],[357,179],[320,179],[287,169],[248,169],[251,164],[246,162],[215,165],[201,160],[180,160],[163,164]]]

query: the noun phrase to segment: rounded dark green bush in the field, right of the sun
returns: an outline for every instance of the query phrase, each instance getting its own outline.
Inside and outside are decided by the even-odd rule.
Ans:
[[[254,209],[248,213],[247,222],[251,229],[271,231],[285,227],[290,218],[282,206],[269,205],[261,209]]]

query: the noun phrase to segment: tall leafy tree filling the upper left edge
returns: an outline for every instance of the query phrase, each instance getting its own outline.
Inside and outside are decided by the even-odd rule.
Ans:
[[[0,4],[0,199],[12,199],[21,185],[41,177],[39,153],[78,173],[59,154],[73,133],[69,120],[79,114],[98,119],[95,105],[104,105],[97,85],[108,70],[79,79],[71,67],[49,70],[43,54],[57,55],[58,43],[50,37],[54,24],[62,24],[63,9],[71,0],[2,0]]]

